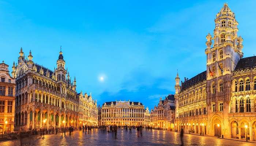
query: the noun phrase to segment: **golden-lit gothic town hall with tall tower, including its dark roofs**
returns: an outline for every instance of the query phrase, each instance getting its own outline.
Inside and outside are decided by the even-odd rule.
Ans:
[[[176,80],[175,128],[228,138],[256,139],[256,57],[242,58],[238,22],[227,4],[206,36],[206,71]],[[214,42],[212,46],[212,41]]]

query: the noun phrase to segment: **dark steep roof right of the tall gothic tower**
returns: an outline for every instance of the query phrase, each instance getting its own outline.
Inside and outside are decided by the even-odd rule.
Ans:
[[[241,58],[238,61],[235,70],[253,68],[253,67],[256,67],[256,56]]]

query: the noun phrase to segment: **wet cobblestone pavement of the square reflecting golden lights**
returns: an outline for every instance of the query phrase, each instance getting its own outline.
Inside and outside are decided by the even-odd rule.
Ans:
[[[85,134],[80,131],[74,131],[74,136],[70,137],[61,134],[45,135],[45,138],[32,137],[22,139],[23,146],[178,146],[180,145],[179,133],[143,129],[143,137],[137,137],[136,131],[132,134],[125,130],[118,130],[117,139],[114,139],[113,133],[102,133],[100,130],[94,130],[92,134]],[[0,146],[19,146],[20,139],[13,141],[0,142]],[[255,143],[240,141],[231,141],[218,139],[215,137],[202,137],[199,135],[184,134],[185,146],[255,146]]]

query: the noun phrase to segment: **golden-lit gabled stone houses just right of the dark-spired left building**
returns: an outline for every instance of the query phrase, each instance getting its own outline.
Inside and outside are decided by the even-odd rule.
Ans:
[[[82,91],[78,93],[78,99],[80,126],[98,126],[97,100],[94,101],[91,94],[84,93],[83,96]]]

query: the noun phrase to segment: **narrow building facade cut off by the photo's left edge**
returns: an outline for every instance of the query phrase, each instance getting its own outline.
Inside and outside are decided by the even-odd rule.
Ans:
[[[8,65],[0,64],[0,134],[14,131],[15,78],[9,74]]]

